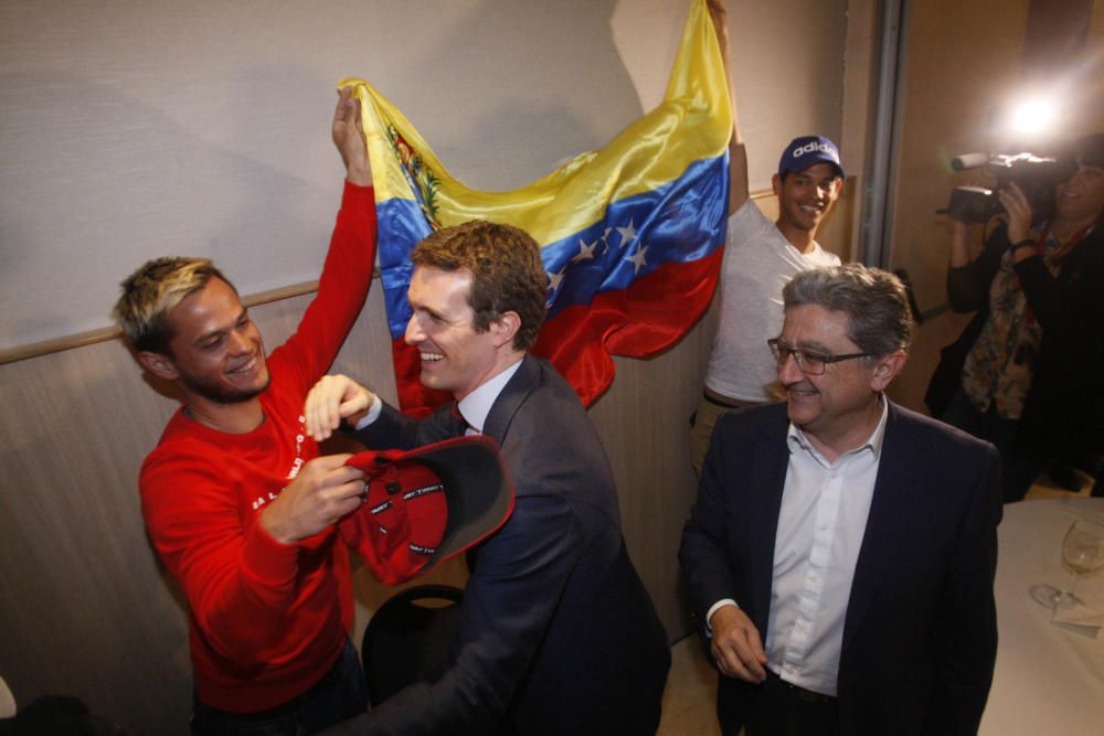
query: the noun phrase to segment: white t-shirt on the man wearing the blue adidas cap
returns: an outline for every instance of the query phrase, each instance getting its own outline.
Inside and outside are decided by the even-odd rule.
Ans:
[[[721,265],[721,319],[705,370],[705,387],[743,402],[767,402],[778,380],[766,341],[782,332],[782,289],[804,270],[840,260],[814,242],[808,254],[790,245],[751,199],[729,217]]]

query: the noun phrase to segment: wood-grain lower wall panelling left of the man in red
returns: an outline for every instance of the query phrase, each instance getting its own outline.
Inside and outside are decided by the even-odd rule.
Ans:
[[[132,733],[187,719],[185,620],[135,480],[172,402],[118,342],[4,365],[0,397],[0,666],[17,702],[79,695]]]

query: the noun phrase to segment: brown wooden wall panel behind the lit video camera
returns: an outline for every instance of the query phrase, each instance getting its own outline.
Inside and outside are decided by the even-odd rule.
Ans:
[[[909,3],[887,237],[893,268],[907,269],[922,310],[946,302],[947,221],[935,211],[947,205],[953,186],[983,181],[977,172],[952,172],[951,159],[1010,142],[997,113],[1020,78],[1028,6],[1028,0]]]

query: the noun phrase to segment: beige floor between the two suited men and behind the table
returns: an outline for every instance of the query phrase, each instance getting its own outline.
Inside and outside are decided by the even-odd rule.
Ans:
[[[1027,500],[1089,495],[1087,476],[1079,493],[1057,488],[1045,476],[1036,483]],[[716,695],[716,673],[705,661],[697,636],[690,636],[671,648],[671,673],[664,692],[664,716],[657,736],[720,736],[713,701]]]

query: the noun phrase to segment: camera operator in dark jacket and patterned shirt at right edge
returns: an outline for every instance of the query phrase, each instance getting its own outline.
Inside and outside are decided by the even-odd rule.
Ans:
[[[951,307],[977,313],[943,350],[925,401],[934,416],[997,446],[1005,502],[1101,437],[1104,134],[1078,140],[1072,154],[1075,172],[1037,226],[1015,181],[998,192],[1007,214],[976,260],[969,226],[951,223]]]

